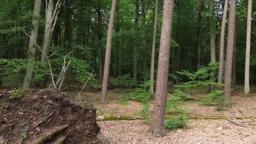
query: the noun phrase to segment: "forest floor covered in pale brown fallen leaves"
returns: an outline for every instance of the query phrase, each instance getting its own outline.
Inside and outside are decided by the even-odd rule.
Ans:
[[[80,98],[83,103],[94,103],[98,116],[139,115],[144,105],[129,100],[128,105],[120,105],[124,93],[134,89],[115,88],[108,91],[108,104],[100,104],[100,92],[84,92]],[[168,89],[171,93],[172,88]],[[217,111],[216,106],[202,106],[199,100],[207,97],[207,89],[195,89],[194,100],[186,101],[179,107],[188,111],[191,117],[227,117],[227,119],[190,119],[188,128],[177,131],[167,130],[167,136],[154,137],[149,133],[150,124],[143,120],[98,121],[101,132],[111,143],[256,143],[256,87],[251,88],[251,97],[242,96],[242,86],[232,92],[232,107]],[[149,112],[153,111],[153,101]],[[172,115],[173,113],[167,113]],[[237,119],[251,116],[253,118]],[[237,125],[238,124],[238,125]]]

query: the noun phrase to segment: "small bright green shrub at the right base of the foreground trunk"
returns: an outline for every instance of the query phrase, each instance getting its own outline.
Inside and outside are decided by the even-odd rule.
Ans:
[[[167,119],[165,122],[166,129],[176,131],[178,128],[185,129],[188,125],[188,117],[184,113],[179,114],[178,117]]]

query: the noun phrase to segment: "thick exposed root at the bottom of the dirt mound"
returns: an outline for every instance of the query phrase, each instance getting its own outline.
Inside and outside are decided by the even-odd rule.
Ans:
[[[44,135],[41,139],[38,141],[34,142],[34,144],[43,144],[45,141],[50,140],[51,137],[53,137],[55,134],[59,133],[60,131],[66,129],[68,125],[63,125],[61,127],[57,127],[53,130],[50,130],[48,134]],[[63,137],[62,137],[63,138]],[[66,138],[66,137],[65,137]],[[59,139],[58,139],[59,140]],[[65,139],[64,139],[65,140]]]

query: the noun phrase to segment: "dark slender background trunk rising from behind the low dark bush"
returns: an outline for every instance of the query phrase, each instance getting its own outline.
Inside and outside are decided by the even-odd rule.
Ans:
[[[137,79],[138,73],[138,25],[139,25],[139,0],[136,0],[136,13],[135,13],[135,45],[133,49],[133,79]]]

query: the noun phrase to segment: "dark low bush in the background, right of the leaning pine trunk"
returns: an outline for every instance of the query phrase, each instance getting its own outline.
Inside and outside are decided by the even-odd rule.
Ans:
[[[132,88],[137,85],[137,80],[133,79],[130,74],[118,76],[115,79],[110,80],[115,87],[127,87]]]

